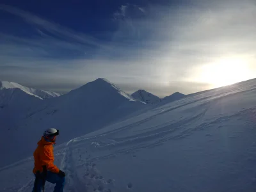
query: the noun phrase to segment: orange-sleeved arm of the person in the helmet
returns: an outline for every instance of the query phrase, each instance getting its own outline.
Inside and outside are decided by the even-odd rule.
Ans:
[[[41,157],[42,164],[52,173],[59,173],[59,168],[53,164],[54,156],[51,146],[45,146],[44,154]]]

